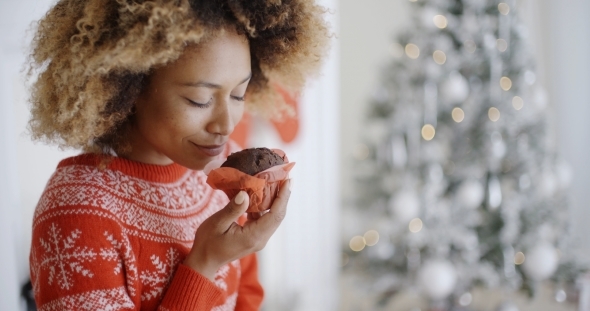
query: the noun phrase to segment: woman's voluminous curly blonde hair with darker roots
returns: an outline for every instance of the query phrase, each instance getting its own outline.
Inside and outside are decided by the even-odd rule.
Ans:
[[[90,152],[122,148],[150,70],[227,27],[250,43],[249,108],[275,114],[283,105],[273,84],[297,91],[319,69],[325,12],[313,0],[60,0],[32,42],[33,139]]]

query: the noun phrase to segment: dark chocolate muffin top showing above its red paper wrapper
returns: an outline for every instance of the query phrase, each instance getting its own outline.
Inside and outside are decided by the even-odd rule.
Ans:
[[[285,160],[280,155],[268,148],[250,148],[230,154],[221,167],[233,167],[254,176],[275,165],[284,163]]]

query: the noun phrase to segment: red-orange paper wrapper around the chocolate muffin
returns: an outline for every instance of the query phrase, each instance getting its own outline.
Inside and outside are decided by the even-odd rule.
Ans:
[[[269,209],[275,197],[279,193],[280,186],[289,178],[289,171],[295,166],[295,162],[288,162],[285,153],[279,149],[273,149],[281,155],[285,164],[273,166],[254,176],[250,176],[232,167],[219,167],[211,169],[207,167],[205,173],[207,184],[213,189],[218,189],[232,199],[241,190],[246,191],[250,197],[250,205],[247,213],[262,212]],[[221,163],[213,165],[220,166]],[[208,172],[207,172],[208,171]]]

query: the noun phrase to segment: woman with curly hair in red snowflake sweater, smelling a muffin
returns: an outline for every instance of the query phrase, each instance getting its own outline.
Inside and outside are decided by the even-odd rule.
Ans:
[[[250,109],[284,107],[325,52],[312,1],[62,0],[39,22],[33,137],[63,160],[35,211],[40,310],[258,310],[255,252],[286,214],[244,218],[206,185]],[[238,224],[239,223],[239,224]]]

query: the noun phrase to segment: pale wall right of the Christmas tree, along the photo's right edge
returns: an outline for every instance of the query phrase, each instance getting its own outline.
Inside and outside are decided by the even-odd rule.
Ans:
[[[572,225],[590,257],[590,1],[534,1],[539,69],[549,91],[561,155],[574,169]]]

